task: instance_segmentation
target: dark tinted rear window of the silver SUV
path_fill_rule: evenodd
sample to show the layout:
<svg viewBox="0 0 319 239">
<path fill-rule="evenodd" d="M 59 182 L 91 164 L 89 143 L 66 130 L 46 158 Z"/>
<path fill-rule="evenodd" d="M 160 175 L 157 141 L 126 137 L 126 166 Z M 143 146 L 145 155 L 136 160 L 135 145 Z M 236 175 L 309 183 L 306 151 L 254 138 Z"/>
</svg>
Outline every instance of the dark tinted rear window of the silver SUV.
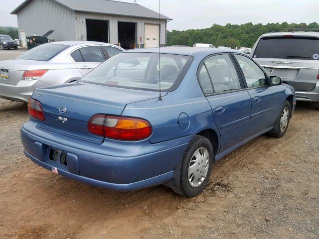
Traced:
<svg viewBox="0 0 319 239">
<path fill-rule="evenodd" d="M 319 39 L 310 37 L 261 38 L 254 57 L 318 60 Z"/>
</svg>

